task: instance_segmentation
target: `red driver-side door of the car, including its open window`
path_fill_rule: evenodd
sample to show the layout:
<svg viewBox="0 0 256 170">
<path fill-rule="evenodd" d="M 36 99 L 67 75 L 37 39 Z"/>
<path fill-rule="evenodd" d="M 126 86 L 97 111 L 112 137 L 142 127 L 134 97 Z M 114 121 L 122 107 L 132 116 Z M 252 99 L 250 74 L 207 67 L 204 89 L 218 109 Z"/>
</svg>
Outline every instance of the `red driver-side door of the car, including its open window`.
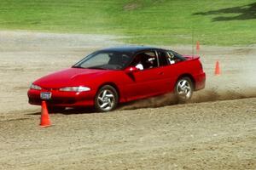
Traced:
<svg viewBox="0 0 256 170">
<path fill-rule="evenodd" d="M 143 65 L 143 69 L 141 66 L 137 67 L 138 63 Z M 163 93 L 163 67 L 159 67 L 159 64 L 155 50 L 143 51 L 135 56 L 131 66 L 141 70 L 132 73 L 132 83 L 127 87 L 129 99 L 141 99 Z"/>
</svg>

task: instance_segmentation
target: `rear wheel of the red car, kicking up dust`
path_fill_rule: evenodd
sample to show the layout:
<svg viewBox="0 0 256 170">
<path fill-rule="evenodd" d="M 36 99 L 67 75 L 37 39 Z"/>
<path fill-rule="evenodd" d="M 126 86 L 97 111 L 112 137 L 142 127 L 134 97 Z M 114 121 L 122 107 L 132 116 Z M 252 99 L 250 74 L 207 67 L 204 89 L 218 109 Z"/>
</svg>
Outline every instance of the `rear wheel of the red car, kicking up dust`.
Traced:
<svg viewBox="0 0 256 170">
<path fill-rule="evenodd" d="M 194 92 L 194 84 L 189 77 L 182 77 L 175 85 L 175 95 L 179 103 L 186 103 L 191 99 Z"/>
</svg>

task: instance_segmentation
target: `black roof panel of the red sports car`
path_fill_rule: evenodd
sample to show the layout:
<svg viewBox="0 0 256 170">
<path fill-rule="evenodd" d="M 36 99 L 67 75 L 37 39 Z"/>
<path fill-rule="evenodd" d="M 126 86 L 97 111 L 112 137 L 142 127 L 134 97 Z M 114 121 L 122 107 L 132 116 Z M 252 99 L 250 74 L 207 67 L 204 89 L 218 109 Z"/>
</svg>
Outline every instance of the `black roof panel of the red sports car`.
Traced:
<svg viewBox="0 0 256 170">
<path fill-rule="evenodd" d="M 154 49 L 161 49 L 161 48 L 152 48 L 148 46 L 121 46 L 121 47 L 114 47 L 114 48 L 104 48 L 100 51 L 116 51 L 116 52 L 125 52 L 125 53 L 134 54 L 139 51 L 154 50 Z"/>
</svg>

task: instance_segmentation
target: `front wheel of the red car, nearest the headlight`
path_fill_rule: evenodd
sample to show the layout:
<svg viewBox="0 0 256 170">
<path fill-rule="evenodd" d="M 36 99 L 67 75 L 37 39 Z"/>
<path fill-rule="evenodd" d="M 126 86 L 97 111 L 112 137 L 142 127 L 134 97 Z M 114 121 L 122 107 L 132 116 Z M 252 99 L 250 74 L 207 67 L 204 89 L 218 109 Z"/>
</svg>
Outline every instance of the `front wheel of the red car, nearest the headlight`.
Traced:
<svg viewBox="0 0 256 170">
<path fill-rule="evenodd" d="M 119 95 L 115 88 L 105 85 L 100 88 L 96 94 L 94 105 L 96 111 L 107 112 L 113 111 L 119 102 Z"/>
</svg>

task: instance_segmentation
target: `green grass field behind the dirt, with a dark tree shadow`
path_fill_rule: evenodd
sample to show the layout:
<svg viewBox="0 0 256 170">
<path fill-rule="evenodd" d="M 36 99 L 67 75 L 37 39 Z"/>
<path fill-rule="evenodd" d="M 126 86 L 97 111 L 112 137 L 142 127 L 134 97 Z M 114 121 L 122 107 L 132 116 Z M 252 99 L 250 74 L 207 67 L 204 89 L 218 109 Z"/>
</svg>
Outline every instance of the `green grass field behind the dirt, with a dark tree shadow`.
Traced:
<svg viewBox="0 0 256 170">
<path fill-rule="evenodd" d="M 246 6 L 252 3 L 255 0 L 0 0 L 0 29 L 113 34 L 139 44 L 247 45 L 256 43 L 256 5 Z"/>
</svg>

